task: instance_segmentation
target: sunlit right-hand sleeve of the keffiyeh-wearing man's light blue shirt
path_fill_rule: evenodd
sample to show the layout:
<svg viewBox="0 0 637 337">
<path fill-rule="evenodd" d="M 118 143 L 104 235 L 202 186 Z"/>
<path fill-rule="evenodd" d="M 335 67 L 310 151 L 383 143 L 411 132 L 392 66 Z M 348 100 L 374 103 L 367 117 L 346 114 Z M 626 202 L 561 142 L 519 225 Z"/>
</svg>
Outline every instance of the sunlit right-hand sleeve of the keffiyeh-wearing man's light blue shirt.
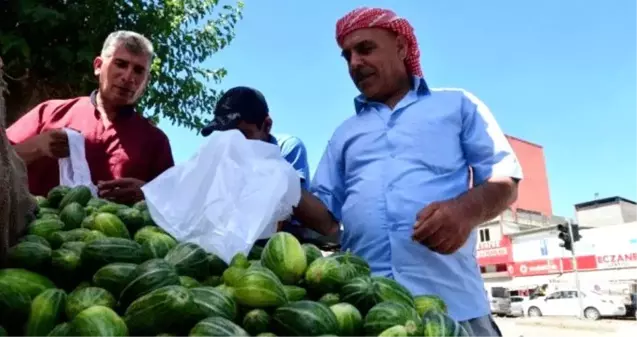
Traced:
<svg viewBox="0 0 637 337">
<path fill-rule="evenodd" d="M 462 98 L 462 148 L 474 185 L 492 177 L 522 179 L 522 167 L 489 108 L 473 94 Z"/>
</svg>

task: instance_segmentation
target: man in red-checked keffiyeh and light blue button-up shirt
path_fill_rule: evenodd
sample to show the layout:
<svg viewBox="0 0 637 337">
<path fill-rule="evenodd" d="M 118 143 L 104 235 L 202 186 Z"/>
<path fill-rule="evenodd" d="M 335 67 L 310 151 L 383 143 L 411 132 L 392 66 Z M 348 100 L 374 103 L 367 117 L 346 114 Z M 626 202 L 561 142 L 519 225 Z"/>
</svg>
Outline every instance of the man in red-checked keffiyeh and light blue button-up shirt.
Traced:
<svg viewBox="0 0 637 337">
<path fill-rule="evenodd" d="M 336 40 L 361 95 L 311 189 L 343 224 L 342 249 L 414 295 L 441 297 L 471 336 L 501 336 L 475 252 L 476 227 L 517 198 L 506 137 L 471 93 L 429 88 L 414 30 L 394 12 L 356 9 Z"/>
</svg>

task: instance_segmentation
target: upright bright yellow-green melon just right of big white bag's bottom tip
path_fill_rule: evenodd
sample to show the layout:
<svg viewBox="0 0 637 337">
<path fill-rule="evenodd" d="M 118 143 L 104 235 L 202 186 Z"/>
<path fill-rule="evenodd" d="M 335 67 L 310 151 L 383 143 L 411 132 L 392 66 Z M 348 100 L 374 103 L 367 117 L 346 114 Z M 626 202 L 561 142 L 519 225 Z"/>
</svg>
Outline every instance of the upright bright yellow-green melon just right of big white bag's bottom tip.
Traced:
<svg viewBox="0 0 637 337">
<path fill-rule="evenodd" d="M 286 232 L 274 234 L 263 248 L 261 264 L 272 270 L 283 284 L 296 284 L 305 273 L 307 258 L 299 240 Z"/>
</svg>

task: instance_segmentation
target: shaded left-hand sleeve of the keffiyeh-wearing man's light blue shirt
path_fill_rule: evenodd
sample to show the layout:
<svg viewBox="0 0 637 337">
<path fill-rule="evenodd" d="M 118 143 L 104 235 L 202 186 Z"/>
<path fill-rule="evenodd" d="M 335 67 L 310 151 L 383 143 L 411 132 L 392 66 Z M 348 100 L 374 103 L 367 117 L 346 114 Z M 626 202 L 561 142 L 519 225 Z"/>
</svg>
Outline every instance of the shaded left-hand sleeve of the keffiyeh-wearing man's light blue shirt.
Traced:
<svg viewBox="0 0 637 337">
<path fill-rule="evenodd" d="M 345 199 L 340 158 L 340 153 L 334 148 L 333 143 L 328 143 L 310 187 L 311 192 L 325 204 L 338 221 L 341 221 L 341 208 Z"/>
</svg>

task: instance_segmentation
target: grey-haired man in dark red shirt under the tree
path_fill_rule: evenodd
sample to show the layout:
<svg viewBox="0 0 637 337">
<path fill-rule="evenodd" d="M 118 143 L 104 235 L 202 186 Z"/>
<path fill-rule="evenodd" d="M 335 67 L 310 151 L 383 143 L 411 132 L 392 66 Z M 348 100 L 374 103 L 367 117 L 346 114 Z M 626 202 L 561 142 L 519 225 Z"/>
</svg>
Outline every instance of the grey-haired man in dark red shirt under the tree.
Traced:
<svg viewBox="0 0 637 337">
<path fill-rule="evenodd" d="M 69 155 L 62 128 L 84 136 L 91 177 L 105 199 L 141 200 L 140 187 L 174 165 L 166 135 L 135 111 L 152 57 L 153 46 L 142 35 L 111 33 L 93 61 L 98 90 L 45 101 L 11 125 L 7 135 L 27 165 L 32 194 L 46 195 L 59 184 L 58 159 Z"/>
</svg>

